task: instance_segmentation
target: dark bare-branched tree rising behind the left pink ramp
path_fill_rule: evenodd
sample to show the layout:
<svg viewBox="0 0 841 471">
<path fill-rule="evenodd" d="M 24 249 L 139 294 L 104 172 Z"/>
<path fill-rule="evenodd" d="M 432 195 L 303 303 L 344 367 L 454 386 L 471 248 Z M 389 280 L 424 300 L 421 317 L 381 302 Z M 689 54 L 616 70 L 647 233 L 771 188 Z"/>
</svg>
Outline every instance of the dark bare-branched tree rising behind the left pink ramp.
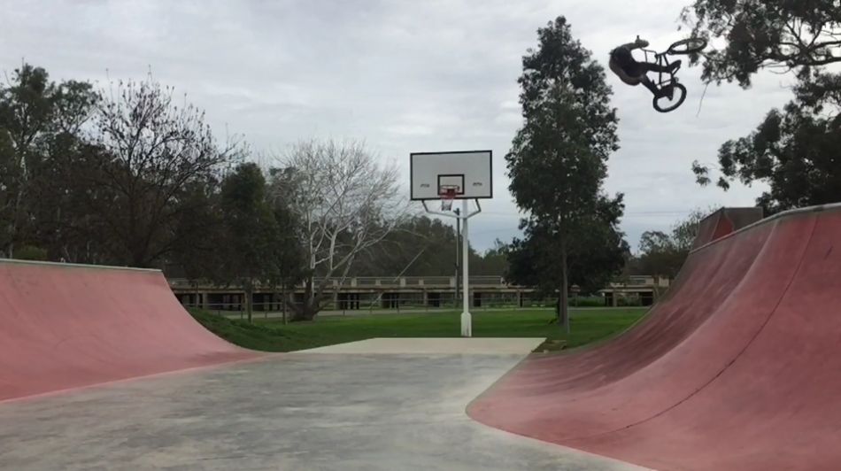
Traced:
<svg viewBox="0 0 841 471">
<path fill-rule="evenodd" d="M 151 266 L 180 237 L 202 236 L 175 230 L 184 214 L 200 209 L 194 203 L 204 201 L 186 192 L 216 181 L 225 164 L 243 156 L 243 146 L 218 145 L 204 112 L 186 98 L 177 103 L 173 89 L 151 77 L 120 81 L 103 95 L 90 138 L 102 151 L 79 178 L 100 190 L 89 193 L 87 203 L 104 220 L 112 258 Z"/>
</svg>

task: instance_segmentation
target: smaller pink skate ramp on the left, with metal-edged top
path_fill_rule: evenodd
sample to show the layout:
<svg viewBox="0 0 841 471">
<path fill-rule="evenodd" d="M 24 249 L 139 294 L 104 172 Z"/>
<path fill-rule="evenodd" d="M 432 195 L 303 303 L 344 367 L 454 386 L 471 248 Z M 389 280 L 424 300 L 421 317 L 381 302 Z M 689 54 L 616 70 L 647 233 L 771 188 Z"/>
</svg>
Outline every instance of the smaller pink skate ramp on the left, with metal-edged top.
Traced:
<svg viewBox="0 0 841 471">
<path fill-rule="evenodd" d="M 0 401 L 258 357 L 198 324 L 153 270 L 0 260 Z"/>
</svg>

